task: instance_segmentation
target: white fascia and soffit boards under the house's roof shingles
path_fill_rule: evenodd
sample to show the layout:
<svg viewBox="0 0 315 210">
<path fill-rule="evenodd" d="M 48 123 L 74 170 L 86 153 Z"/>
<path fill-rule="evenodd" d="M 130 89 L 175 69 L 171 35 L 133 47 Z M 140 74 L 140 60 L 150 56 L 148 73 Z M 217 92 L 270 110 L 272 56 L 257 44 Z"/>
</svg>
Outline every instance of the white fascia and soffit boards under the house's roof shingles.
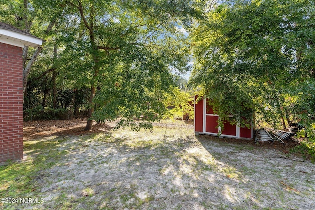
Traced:
<svg viewBox="0 0 315 210">
<path fill-rule="evenodd" d="M 43 41 L 40 38 L 1 28 L 0 42 L 18 47 L 23 47 L 24 45 L 29 47 L 39 47 L 43 44 Z"/>
</svg>

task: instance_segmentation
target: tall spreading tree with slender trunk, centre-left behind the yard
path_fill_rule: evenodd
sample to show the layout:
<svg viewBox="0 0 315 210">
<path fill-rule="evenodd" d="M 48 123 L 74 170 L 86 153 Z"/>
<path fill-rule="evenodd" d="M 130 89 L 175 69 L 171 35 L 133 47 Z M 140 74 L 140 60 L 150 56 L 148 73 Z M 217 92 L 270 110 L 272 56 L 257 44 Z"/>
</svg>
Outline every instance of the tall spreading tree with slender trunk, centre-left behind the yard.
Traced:
<svg viewBox="0 0 315 210">
<path fill-rule="evenodd" d="M 138 129 L 150 124 L 134 119 L 145 115 L 150 122 L 163 115 L 171 69 L 184 69 L 189 56 L 180 32 L 195 12 L 189 2 L 65 1 L 71 12 L 63 56 L 69 59 L 69 74 L 91 87 L 86 130 L 92 129 L 93 119 L 120 115 L 119 126 Z"/>
</svg>

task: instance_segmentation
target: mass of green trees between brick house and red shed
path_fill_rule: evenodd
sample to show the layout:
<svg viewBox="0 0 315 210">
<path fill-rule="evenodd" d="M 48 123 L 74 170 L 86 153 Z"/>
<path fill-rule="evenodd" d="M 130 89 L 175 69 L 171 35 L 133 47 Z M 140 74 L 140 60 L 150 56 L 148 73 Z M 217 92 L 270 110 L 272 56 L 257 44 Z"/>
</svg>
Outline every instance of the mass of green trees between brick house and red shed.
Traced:
<svg viewBox="0 0 315 210">
<path fill-rule="evenodd" d="M 189 68 L 183 29 L 201 15 L 203 2 L 196 2 L 3 1 L 2 21 L 44 39 L 24 107 L 87 107 L 88 121 L 120 116 L 119 126 L 150 128 L 150 121 L 167 113 L 164 101 L 173 90 L 172 72 Z M 148 124 L 135 121 L 142 116 Z"/>
</svg>

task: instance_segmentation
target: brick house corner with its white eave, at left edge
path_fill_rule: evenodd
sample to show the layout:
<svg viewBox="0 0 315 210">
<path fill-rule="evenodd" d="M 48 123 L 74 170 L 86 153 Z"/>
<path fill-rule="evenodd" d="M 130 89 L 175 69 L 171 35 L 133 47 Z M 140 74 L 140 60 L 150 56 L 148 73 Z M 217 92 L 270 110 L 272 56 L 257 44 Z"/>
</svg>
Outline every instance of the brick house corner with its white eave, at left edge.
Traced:
<svg viewBox="0 0 315 210">
<path fill-rule="evenodd" d="M 0 22 L 0 162 L 23 157 L 23 46 L 42 40 Z"/>
</svg>

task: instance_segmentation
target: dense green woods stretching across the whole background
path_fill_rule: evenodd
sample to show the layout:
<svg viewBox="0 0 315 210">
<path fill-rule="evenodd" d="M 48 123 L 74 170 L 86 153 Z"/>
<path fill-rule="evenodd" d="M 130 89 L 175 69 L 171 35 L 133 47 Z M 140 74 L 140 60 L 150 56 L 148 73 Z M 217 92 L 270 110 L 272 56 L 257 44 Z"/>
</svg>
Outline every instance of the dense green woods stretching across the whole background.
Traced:
<svg viewBox="0 0 315 210">
<path fill-rule="evenodd" d="M 219 124 L 231 114 L 245 125 L 253 115 L 275 128 L 298 123 L 315 142 L 311 0 L 0 3 L 1 21 L 44 39 L 23 50 L 25 109 L 86 108 L 86 130 L 118 116 L 118 126 L 151 128 L 170 101 L 189 98 L 174 72 L 193 61 L 189 94 L 209 98 Z"/>
</svg>

